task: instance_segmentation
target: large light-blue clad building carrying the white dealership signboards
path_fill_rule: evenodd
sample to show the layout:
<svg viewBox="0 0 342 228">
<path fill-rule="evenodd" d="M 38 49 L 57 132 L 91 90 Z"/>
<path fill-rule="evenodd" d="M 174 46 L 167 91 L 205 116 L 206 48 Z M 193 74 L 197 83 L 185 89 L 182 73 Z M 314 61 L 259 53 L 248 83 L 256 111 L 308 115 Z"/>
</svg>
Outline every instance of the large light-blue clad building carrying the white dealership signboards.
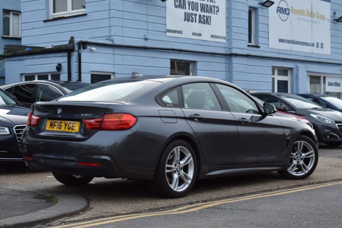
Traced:
<svg viewBox="0 0 342 228">
<path fill-rule="evenodd" d="M 140 72 L 341 97 L 342 3 L 267 2 L 21 0 L 22 43 L 5 47 L 6 84 L 94 83 Z"/>
</svg>

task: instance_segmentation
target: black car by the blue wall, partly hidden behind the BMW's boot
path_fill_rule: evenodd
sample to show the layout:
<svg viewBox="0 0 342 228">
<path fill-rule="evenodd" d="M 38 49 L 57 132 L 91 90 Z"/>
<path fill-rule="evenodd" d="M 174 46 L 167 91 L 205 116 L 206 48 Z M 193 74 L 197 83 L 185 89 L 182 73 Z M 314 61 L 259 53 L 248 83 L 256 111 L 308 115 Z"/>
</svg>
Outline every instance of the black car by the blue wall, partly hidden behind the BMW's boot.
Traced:
<svg viewBox="0 0 342 228">
<path fill-rule="evenodd" d="M 51 101 L 87 85 L 89 83 L 35 80 L 0 86 L 0 89 L 14 95 L 21 104 L 30 108 L 36 101 Z"/>
</svg>

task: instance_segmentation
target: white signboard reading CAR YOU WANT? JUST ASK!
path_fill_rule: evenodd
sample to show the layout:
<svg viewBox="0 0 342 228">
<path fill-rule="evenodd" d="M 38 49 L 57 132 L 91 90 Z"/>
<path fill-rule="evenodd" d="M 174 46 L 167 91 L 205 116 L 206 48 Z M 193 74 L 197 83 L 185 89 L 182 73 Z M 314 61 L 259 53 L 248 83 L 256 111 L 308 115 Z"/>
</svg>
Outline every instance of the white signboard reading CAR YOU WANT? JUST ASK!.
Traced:
<svg viewBox="0 0 342 228">
<path fill-rule="evenodd" d="M 168 0 L 166 36 L 226 42 L 226 1 Z"/>
</svg>

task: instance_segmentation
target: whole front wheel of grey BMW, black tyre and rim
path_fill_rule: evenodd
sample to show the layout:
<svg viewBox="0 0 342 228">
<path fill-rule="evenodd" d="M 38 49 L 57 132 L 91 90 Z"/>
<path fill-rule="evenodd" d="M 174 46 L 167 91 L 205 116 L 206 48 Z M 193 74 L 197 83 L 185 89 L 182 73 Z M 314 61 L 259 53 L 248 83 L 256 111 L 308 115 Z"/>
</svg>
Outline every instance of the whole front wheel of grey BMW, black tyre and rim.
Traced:
<svg viewBox="0 0 342 228">
<path fill-rule="evenodd" d="M 305 179 L 316 169 L 317 162 L 317 146 L 309 137 L 301 135 L 293 143 L 288 168 L 278 173 L 287 179 Z"/>
</svg>

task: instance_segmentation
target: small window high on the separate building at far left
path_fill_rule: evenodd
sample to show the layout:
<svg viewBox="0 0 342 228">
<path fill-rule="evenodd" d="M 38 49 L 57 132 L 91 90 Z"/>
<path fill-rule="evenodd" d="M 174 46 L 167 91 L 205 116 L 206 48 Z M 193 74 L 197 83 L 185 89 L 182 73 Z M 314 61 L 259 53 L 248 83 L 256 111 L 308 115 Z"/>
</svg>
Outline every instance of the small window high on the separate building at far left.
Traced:
<svg viewBox="0 0 342 228">
<path fill-rule="evenodd" d="M 20 12 L 3 11 L 3 36 L 20 37 L 21 36 Z"/>
</svg>

